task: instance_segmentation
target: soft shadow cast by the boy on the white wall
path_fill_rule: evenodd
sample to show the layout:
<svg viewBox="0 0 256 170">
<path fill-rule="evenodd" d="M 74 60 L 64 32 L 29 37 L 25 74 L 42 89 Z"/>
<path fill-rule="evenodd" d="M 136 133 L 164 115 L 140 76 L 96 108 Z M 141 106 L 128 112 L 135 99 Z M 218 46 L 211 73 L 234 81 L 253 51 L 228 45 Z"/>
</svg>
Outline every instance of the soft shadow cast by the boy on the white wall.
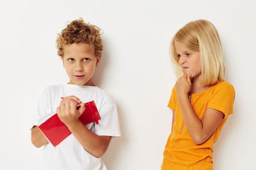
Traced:
<svg viewBox="0 0 256 170">
<path fill-rule="evenodd" d="M 95 73 L 93 75 L 93 83 L 97 85 L 98 87 L 104 87 L 102 83 L 104 83 L 105 75 L 106 75 L 106 69 L 109 66 L 109 53 L 108 53 L 108 45 L 106 45 L 107 41 L 106 39 L 102 39 L 104 43 L 104 50 L 102 52 L 102 58 L 100 59 L 100 64 L 95 70 Z M 111 81 L 111 80 L 106 80 L 106 81 Z M 104 89 L 105 90 L 105 89 Z M 116 160 L 120 157 L 120 149 L 122 146 L 124 146 L 125 143 L 125 129 L 124 126 L 124 121 L 122 118 L 122 106 L 120 105 L 120 102 L 116 101 L 117 105 L 117 111 L 118 111 L 118 119 L 120 123 L 120 129 L 121 129 L 121 135 L 122 138 L 112 138 L 111 142 L 109 144 L 107 152 L 103 155 L 102 159 L 104 164 L 108 169 L 115 169 L 116 165 Z"/>
</svg>

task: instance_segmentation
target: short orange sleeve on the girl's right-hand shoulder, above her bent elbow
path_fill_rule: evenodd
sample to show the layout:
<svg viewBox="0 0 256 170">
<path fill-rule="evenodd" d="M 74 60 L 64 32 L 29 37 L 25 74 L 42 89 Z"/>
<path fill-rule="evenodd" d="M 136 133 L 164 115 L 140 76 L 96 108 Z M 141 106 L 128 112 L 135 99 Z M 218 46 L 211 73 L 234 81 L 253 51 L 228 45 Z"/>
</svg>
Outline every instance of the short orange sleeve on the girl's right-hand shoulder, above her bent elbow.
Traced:
<svg viewBox="0 0 256 170">
<path fill-rule="evenodd" d="M 223 82 L 221 85 L 218 85 L 212 93 L 207 108 L 219 110 L 224 113 L 224 120 L 228 115 L 233 113 L 235 95 L 234 87 L 229 83 Z"/>
</svg>

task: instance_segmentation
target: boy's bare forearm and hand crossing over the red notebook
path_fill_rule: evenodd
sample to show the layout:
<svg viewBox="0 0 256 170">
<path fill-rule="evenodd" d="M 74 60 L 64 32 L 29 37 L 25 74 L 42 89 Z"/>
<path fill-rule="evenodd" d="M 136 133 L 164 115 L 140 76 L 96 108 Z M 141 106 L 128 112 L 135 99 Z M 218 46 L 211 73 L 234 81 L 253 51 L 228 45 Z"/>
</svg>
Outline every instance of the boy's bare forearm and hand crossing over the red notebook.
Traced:
<svg viewBox="0 0 256 170">
<path fill-rule="evenodd" d="M 61 101 L 60 106 L 57 108 L 58 117 L 61 122 L 67 125 L 68 129 L 87 152 L 95 157 L 101 157 L 108 149 L 112 137 L 99 136 L 85 127 L 79 120 L 79 117 L 86 109 L 85 105 L 82 103 L 81 107 L 77 110 L 77 104 L 79 103 L 74 101 L 73 98 L 65 97 Z"/>
</svg>

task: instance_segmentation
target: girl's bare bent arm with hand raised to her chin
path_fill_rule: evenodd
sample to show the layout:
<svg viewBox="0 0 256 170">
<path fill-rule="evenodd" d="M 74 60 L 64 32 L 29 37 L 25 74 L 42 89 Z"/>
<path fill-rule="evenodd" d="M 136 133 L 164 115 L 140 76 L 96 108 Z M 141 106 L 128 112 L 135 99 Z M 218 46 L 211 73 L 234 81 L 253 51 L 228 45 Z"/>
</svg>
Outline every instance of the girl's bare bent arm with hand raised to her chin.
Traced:
<svg viewBox="0 0 256 170">
<path fill-rule="evenodd" d="M 224 114 L 221 111 L 206 108 L 204 117 L 200 120 L 189 103 L 188 92 L 190 89 L 191 74 L 184 73 L 184 76 L 179 78 L 175 84 L 177 100 L 191 138 L 196 145 L 200 145 L 210 138 L 223 120 Z"/>
</svg>

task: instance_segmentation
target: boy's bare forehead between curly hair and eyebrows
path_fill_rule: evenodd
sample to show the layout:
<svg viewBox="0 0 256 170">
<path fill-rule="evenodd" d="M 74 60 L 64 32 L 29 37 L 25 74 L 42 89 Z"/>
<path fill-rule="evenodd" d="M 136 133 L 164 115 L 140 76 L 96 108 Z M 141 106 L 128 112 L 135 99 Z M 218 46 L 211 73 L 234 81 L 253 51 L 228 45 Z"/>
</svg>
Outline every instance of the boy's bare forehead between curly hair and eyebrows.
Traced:
<svg viewBox="0 0 256 170">
<path fill-rule="evenodd" d="M 88 53 L 90 55 L 95 55 L 95 48 L 88 43 L 72 43 L 64 46 L 64 55 L 74 53 Z"/>
</svg>

